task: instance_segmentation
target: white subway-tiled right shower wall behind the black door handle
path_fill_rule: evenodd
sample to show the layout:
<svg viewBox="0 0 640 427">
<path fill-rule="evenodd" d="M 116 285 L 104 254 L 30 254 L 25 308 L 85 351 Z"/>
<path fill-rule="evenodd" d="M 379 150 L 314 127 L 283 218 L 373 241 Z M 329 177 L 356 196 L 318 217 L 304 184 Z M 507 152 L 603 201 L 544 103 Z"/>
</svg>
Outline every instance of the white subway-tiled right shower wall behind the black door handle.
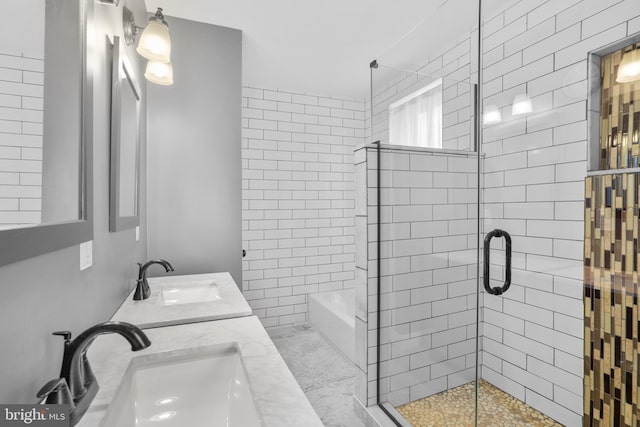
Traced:
<svg viewBox="0 0 640 427">
<path fill-rule="evenodd" d="M 513 238 L 513 284 L 485 295 L 482 376 L 565 425 L 582 420 L 587 54 L 640 31 L 636 0 L 512 4 L 484 27 L 484 231 Z M 527 94 L 533 112 L 514 117 Z M 496 259 L 501 256 L 496 256 Z"/>
</svg>

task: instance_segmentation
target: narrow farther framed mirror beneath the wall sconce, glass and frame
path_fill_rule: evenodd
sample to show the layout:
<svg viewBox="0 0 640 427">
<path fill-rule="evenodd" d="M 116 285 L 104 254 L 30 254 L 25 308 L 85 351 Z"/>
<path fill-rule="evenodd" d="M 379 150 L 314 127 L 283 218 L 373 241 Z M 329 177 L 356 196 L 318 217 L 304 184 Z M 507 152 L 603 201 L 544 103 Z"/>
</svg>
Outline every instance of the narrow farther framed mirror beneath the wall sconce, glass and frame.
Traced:
<svg viewBox="0 0 640 427">
<path fill-rule="evenodd" d="M 111 170 L 109 230 L 120 231 L 140 224 L 138 182 L 140 165 L 140 88 L 133 67 L 113 40 L 111 78 Z"/>
</svg>

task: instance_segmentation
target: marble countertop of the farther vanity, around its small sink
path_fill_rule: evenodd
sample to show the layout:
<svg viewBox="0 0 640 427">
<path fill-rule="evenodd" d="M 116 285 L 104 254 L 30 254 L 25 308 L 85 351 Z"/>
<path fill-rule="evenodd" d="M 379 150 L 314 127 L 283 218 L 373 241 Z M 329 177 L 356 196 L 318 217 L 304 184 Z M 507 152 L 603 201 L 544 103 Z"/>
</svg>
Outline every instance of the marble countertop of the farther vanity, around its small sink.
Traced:
<svg viewBox="0 0 640 427">
<path fill-rule="evenodd" d="M 229 273 L 191 274 L 147 279 L 151 296 L 134 301 L 133 293 L 124 300 L 111 320 L 129 322 L 142 329 L 209 320 L 250 316 L 253 312 Z M 190 304 L 163 305 L 162 291 L 194 282 L 214 282 L 220 299 Z"/>
</svg>

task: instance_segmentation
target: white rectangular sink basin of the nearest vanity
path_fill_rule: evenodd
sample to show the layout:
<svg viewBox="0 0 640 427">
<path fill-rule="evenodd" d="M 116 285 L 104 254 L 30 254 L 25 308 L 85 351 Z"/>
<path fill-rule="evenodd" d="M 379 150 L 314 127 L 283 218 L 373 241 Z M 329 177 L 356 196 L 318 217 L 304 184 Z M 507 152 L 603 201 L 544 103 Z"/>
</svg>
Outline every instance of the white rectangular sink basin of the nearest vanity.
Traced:
<svg viewBox="0 0 640 427">
<path fill-rule="evenodd" d="M 235 344 L 132 359 L 104 427 L 262 424 Z"/>
</svg>

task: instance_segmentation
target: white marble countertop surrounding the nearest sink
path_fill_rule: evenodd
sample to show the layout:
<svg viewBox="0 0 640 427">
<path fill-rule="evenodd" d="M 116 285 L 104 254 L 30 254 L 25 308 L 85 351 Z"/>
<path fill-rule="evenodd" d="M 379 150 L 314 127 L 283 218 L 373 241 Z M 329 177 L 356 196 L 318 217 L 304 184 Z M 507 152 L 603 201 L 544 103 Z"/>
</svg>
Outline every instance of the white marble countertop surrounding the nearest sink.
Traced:
<svg viewBox="0 0 640 427">
<path fill-rule="evenodd" d="M 168 326 L 145 333 L 151 346 L 139 352 L 132 352 L 129 343 L 114 334 L 99 336 L 91 345 L 88 358 L 100 390 L 79 427 L 101 425 L 127 366 L 136 356 L 226 343 L 237 343 L 263 427 L 322 427 L 257 317 Z"/>
</svg>

